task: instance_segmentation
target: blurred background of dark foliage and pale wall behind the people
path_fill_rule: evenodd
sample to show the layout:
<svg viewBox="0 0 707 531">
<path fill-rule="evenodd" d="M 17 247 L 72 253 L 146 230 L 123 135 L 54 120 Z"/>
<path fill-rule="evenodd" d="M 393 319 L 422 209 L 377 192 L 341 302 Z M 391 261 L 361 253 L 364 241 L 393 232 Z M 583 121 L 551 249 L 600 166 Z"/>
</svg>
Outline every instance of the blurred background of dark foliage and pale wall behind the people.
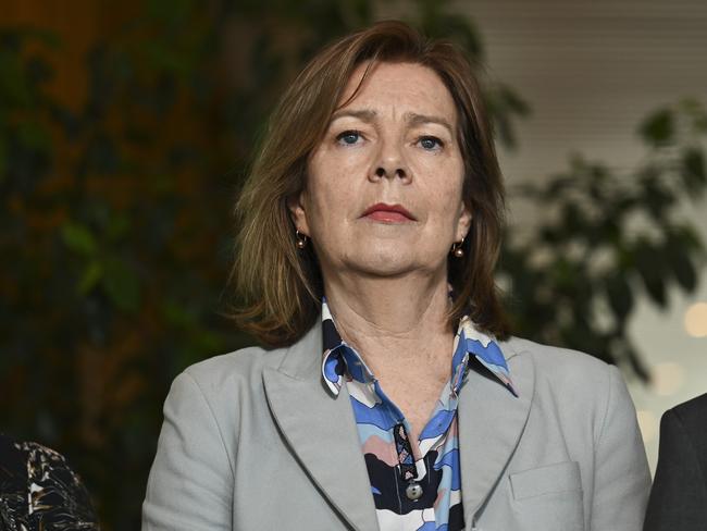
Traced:
<svg viewBox="0 0 707 531">
<path fill-rule="evenodd" d="M 224 314 L 231 210 L 278 94 L 379 18 L 479 64 L 509 193 L 518 335 L 617 363 L 652 468 L 707 392 L 707 4 L 5 0 L 0 431 L 139 511 L 172 379 L 252 339 Z"/>
</svg>

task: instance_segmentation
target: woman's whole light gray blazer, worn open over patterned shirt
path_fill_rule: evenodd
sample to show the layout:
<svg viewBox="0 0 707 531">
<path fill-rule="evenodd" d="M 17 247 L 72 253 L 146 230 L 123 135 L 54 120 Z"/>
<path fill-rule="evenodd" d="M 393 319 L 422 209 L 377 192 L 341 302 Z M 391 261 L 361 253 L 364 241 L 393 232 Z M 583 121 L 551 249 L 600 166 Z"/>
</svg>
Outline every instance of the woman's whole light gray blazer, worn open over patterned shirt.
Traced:
<svg viewBox="0 0 707 531">
<path fill-rule="evenodd" d="M 467 530 L 638 531 L 650 477 L 619 371 L 500 343 L 513 397 L 470 372 L 459 397 Z M 321 325 L 289 348 L 246 348 L 179 374 L 142 530 L 376 530 L 346 386 L 321 380 Z"/>
</svg>

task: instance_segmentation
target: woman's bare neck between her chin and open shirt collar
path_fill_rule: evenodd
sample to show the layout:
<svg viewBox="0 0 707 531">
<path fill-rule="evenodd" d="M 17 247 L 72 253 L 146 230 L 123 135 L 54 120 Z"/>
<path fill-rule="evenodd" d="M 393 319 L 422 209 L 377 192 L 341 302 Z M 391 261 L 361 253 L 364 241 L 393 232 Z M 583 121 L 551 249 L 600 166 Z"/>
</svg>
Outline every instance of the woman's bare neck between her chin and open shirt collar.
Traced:
<svg viewBox="0 0 707 531">
<path fill-rule="evenodd" d="M 436 277 L 325 279 L 324 288 L 342 338 L 367 363 L 376 365 L 375 358 L 381 357 L 430 360 L 449 355 L 447 348 L 439 348 L 454 341 L 447 325 L 446 272 Z"/>
</svg>

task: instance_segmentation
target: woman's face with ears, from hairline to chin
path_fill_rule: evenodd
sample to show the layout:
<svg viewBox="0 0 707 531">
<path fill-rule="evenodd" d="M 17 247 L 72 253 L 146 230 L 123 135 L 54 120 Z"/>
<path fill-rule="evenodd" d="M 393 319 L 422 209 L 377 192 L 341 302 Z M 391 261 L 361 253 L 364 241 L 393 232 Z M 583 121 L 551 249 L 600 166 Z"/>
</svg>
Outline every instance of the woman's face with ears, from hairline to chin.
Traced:
<svg viewBox="0 0 707 531">
<path fill-rule="evenodd" d="M 365 70 L 360 65 L 346 101 Z M 340 103 L 340 102 L 339 102 Z M 463 160 L 451 95 L 434 71 L 380 63 L 338 109 L 289 207 L 322 274 L 445 274 L 466 236 Z"/>
</svg>

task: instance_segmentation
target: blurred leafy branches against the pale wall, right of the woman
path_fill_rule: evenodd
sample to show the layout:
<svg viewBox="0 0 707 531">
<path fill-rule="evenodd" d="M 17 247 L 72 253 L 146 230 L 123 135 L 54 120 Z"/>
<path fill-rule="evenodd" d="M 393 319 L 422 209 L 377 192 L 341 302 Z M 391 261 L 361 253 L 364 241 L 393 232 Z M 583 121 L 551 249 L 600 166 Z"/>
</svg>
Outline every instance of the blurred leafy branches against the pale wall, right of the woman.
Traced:
<svg viewBox="0 0 707 531">
<path fill-rule="evenodd" d="M 648 116 L 638 132 L 649 151 L 628 174 L 575 158 L 567 173 L 513 190 L 547 213 L 509 235 L 501 259 L 519 334 L 648 378 L 627 326 L 641 294 L 666 308 L 671 287 L 697 285 L 705 249 L 679 210 L 707 185 L 706 116 L 696 101 Z"/>
</svg>

